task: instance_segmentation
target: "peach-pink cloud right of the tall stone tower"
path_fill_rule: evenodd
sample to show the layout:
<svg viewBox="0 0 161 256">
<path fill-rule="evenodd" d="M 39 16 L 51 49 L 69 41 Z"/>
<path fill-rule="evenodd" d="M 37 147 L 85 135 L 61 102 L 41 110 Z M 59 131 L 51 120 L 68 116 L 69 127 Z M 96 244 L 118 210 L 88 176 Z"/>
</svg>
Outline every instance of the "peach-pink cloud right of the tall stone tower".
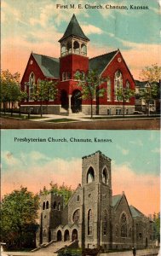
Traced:
<svg viewBox="0 0 161 256">
<path fill-rule="evenodd" d="M 141 173 L 141 172 L 140 172 Z M 130 166 L 112 165 L 112 192 L 120 195 L 124 191 L 129 205 L 149 214 L 159 211 L 159 177 L 152 174 L 136 174 Z"/>
</svg>

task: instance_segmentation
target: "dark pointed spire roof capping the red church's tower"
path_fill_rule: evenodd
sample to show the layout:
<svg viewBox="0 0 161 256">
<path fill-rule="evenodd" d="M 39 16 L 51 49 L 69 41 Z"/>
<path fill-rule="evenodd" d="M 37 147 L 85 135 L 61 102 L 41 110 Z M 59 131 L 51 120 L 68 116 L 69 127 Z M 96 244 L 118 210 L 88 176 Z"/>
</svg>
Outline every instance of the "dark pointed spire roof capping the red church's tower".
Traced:
<svg viewBox="0 0 161 256">
<path fill-rule="evenodd" d="M 87 38 L 84 35 L 82 28 L 79 26 L 78 20 L 76 19 L 75 15 L 72 15 L 72 19 L 66 28 L 66 32 L 64 33 L 63 37 L 60 38 L 59 42 L 61 42 L 62 40 L 64 40 L 65 38 L 68 38 L 70 36 L 75 36 L 77 38 L 82 38 L 86 41 L 89 41 L 89 38 Z"/>
</svg>

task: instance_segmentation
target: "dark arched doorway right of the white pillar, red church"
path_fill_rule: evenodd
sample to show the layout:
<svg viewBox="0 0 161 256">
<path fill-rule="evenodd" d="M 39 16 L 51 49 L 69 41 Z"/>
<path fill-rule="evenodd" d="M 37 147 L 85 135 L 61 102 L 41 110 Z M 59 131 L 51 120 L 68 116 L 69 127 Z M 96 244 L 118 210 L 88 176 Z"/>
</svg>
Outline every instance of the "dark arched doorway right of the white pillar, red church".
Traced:
<svg viewBox="0 0 161 256">
<path fill-rule="evenodd" d="M 82 111 L 82 95 L 80 90 L 74 90 L 71 98 L 72 113 Z"/>
</svg>

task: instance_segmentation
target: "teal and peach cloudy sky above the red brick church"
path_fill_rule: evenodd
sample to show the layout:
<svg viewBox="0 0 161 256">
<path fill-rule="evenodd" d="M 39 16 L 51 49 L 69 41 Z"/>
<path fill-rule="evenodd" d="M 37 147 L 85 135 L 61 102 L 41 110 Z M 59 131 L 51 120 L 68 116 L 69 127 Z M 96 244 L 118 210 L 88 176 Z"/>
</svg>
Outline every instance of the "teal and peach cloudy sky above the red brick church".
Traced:
<svg viewBox="0 0 161 256">
<path fill-rule="evenodd" d="M 1 1 L 1 68 L 23 75 L 31 52 L 60 57 L 58 40 L 76 15 L 85 35 L 90 39 L 88 56 L 102 55 L 120 49 L 135 79 L 141 69 L 159 63 L 160 0 L 79 0 L 83 9 L 57 9 L 56 4 L 71 0 L 2 0 Z M 104 9 L 85 9 L 84 4 L 101 4 Z M 128 9 L 106 9 L 127 6 Z M 133 6 L 132 9 L 130 6 Z M 135 10 L 134 5 L 147 5 Z"/>
</svg>

